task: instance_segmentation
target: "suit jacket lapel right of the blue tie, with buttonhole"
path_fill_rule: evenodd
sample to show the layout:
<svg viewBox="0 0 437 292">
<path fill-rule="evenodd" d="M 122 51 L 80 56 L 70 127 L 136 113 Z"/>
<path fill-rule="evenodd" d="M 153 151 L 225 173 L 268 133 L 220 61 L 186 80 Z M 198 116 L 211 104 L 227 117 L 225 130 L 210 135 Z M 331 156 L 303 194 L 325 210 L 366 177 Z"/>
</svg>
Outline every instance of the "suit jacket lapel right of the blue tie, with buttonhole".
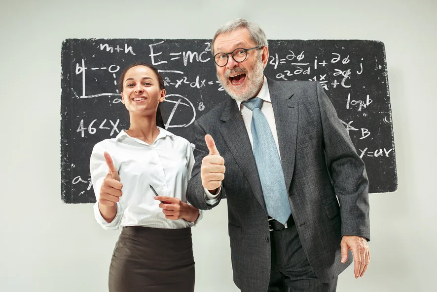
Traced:
<svg viewBox="0 0 437 292">
<path fill-rule="evenodd" d="M 291 83 L 267 78 L 278 133 L 279 151 L 287 190 L 293 177 L 296 154 L 298 110 Z M 294 97 L 294 98 L 293 98 Z"/>
</svg>

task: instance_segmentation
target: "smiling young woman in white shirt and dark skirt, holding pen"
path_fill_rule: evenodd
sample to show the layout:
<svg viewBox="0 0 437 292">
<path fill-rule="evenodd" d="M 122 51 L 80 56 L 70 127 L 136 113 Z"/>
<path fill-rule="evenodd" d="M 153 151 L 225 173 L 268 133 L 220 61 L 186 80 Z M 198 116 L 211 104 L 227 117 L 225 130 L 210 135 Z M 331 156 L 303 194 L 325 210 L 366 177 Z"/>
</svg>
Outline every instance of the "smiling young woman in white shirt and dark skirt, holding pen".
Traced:
<svg viewBox="0 0 437 292">
<path fill-rule="evenodd" d="M 97 143 L 90 160 L 95 218 L 105 229 L 122 227 L 109 291 L 192 292 L 190 227 L 202 213 L 185 199 L 191 145 L 163 128 L 159 104 L 165 87 L 155 68 L 131 65 L 119 84 L 130 127 Z"/>
</svg>

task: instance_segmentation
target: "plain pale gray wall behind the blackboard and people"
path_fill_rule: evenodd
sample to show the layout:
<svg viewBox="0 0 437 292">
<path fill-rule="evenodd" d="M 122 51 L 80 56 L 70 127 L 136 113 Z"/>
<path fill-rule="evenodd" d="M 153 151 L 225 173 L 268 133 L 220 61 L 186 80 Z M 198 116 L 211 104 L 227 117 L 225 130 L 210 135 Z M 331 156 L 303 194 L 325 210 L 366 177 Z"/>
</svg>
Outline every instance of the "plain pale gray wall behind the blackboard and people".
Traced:
<svg viewBox="0 0 437 292">
<path fill-rule="evenodd" d="M 104 292 L 117 231 L 60 194 L 61 43 L 211 39 L 244 17 L 269 39 L 385 43 L 399 189 L 370 195 L 371 263 L 338 291 L 437 291 L 435 0 L 5 1 L 0 4 L 0 291 Z M 226 202 L 193 228 L 196 292 L 235 292 Z M 216 280 L 211 280 L 216 279 Z"/>
</svg>

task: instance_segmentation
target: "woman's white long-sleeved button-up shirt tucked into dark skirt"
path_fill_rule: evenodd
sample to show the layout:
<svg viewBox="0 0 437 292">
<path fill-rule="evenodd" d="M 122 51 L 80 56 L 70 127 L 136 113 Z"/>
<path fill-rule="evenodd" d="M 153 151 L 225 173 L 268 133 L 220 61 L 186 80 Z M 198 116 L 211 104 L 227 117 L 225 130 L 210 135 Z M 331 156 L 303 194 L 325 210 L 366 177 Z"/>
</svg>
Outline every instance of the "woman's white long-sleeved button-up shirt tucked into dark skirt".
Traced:
<svg viewBox="0 0 437 292">
<path fill-rule="evenodd" d="M 190 143 L 169 131 L 158 127 L 159 134 L 151 144 L 129 136 L 125 130 L 112 139 L 97 143 L 91 154 L 91 181 L 97 202 L 94 216 L 105 229 L 118 229 L 120 226 L 146 226 L 153 228 L 181 229 L 195 224 L 202 218 L 200 211 L 196 222 L 170 220 L 165 218 L 159 201 L 150 189 L 151 185 L 160 196 L 180 199 L 186 203 L 185 192 L 194 156 Z M 103 156 L 108 152 L 118 170 L 123 184 L 122 196 L 117 202 L 115 218 L 108 223 L 99 210 L 100 187 L 108 174 L 108 166 Z"/>
</svg>

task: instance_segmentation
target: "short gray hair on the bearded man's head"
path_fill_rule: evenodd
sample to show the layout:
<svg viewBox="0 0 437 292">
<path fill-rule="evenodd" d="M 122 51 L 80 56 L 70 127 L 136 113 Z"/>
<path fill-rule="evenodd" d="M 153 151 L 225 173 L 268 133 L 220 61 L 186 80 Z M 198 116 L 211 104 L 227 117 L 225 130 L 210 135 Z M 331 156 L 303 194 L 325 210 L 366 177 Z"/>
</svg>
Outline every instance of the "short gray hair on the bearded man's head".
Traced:
<svg viewBox="0 0 437 292">
<path fill-rule="evenodd" d="M 214 42 L 220 34 L 230 33 L 240 28 L 248 29 L 250 37 L 255 46 L 268 46 L 267 37 L 265 36 L 262 29 L 252 21 L 247 21 L 243 18 L 237 18 L 222 24 L 214 35 L 213 41 L 211 42 L 211 52 L 214 56 Z"/>
</svg>

